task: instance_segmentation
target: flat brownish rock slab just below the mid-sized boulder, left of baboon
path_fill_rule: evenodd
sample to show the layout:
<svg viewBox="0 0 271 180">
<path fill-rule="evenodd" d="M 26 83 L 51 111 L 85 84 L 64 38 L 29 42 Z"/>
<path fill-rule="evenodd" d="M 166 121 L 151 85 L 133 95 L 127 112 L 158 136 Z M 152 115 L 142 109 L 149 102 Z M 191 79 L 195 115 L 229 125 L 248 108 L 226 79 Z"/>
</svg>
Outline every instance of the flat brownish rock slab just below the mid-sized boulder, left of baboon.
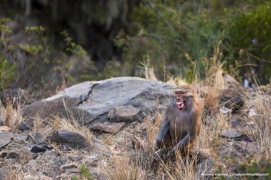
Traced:
<svg viewBox="0 0 271 180">
<path fill-rule="evenodd" d="M 95 126 L 92 126 L 91 130 L 117 133 L 121 128 L 125 126 L 125 124 L 126 124 L 125 122 L 115 122 L 115 123 L 105 122 L 102 124 L 96 124 Z"/>
</svg>

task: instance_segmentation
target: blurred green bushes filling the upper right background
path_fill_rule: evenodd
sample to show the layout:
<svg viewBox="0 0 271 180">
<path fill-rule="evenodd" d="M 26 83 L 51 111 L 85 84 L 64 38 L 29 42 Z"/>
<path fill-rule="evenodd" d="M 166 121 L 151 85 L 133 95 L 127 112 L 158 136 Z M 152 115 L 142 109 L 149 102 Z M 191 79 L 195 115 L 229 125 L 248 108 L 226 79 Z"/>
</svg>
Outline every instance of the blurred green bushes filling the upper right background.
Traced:
<svg viewBox="0 0 271 180">
<path fill-rule="evenodd" d="M 213 56 L 215 45 L 222 40 L 224 71 L 242 77 L 251 71 L 244 64 L 256 64 L 252 68 L 266 83 L 271 71 L 269 7 L 270 2 L 264 0 L 141 0 L 130 13 L 128 31 L 121 31 L 114 42 L 123 48 L 129 75 L 138 75 L 133 67 L 148 56 L 162 79 L 164 70 L 169 75 L 187 75 L 195 62 L 196 71 L 204 77 L 202 61 Z"/>
</svg>

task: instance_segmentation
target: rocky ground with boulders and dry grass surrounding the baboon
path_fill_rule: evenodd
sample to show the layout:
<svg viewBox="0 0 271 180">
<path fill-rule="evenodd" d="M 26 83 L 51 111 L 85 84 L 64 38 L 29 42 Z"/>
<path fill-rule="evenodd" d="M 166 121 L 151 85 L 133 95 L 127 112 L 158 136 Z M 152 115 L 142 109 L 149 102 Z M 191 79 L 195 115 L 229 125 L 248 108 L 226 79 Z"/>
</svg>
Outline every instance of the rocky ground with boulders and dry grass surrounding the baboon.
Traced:
<svg viewBox="0 0 271 180">
<path fill-rule="evenodd" d="M 261 126 L 270 121 L 270 108 L 259 107 L 271 104 L 270 89 L 245 89 L 228 75 L 223 83 L 220 89 L 194 85 L 203 102 L 195 147 L 201 161 L 161 164 L 158 171 L 152 167 L 155 136 L 174 85 L 120 77 L 84 82 L 36 102 L 16 96 L 21 91 L 5 92 L 0 179 L 210 179 L 200 173 L 240 172 L 232 159 L 247 163 L 263 151 L 270 156 Z"/>
</svg>

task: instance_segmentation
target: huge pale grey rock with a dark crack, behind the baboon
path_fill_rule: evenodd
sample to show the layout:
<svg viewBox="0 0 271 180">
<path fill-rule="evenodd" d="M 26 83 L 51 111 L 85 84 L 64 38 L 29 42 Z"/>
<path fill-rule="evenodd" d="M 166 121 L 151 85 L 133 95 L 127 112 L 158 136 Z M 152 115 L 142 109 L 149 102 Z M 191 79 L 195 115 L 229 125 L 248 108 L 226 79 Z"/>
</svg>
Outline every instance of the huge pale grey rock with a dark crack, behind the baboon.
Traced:
<svg viewBox="0 0 271 180">
<path fill-rule="evenodd" d="M 57 95 L 27 105 L 23 114 L 29 120 L 39 113 L 41 118 L 56 115 L 83 118 L 95 125 L 107 121 L 108 112 L 117 106 L 131 105 L 142 112 L 155 112 L 169 104 L 173 86 L 138 77 L 118 77 L 102 81 L 86 81 L 73 85 Z M 159 101 L 158 101 L 159 99 Z M 84 102 L 84 103 L 83 103 Z M 80 121 L 81 122 L 81 121 Z M 27 126 L 32 126 L 27 123 Z"/>
</svg>

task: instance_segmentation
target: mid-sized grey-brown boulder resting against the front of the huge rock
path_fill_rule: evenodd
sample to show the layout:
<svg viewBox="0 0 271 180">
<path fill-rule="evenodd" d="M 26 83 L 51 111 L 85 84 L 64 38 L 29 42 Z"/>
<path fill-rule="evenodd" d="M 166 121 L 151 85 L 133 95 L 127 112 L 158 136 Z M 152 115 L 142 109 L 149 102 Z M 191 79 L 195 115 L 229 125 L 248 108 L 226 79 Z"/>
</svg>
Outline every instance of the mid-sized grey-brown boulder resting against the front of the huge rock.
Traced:
<svg viewBox="0 0 271 180">
<path fill-rule="evenodd" d="M 112 108 L 108 113 L 109 122 L 135 122 L 138 121 L 143 114 L 140 109 L 133 106 L 118 106 Z"/>
</svg>

